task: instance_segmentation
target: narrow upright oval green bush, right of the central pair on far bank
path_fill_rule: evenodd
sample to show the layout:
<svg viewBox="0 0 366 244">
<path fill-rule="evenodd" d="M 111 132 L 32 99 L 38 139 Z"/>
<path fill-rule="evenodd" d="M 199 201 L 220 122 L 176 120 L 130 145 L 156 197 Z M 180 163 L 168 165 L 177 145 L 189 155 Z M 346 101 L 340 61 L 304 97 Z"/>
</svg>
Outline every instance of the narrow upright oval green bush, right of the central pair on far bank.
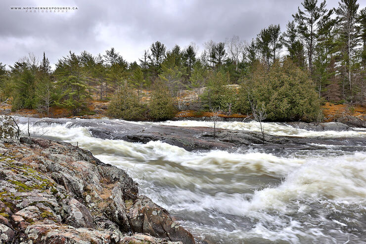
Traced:
<svg viewBox="0 0 366 244">
<path fill-rule="evenodd" d="M 176 109 L 173 98 L 163 81 L 156 81 L 152 86 L 149 109 L 149 116 L 157 121 L 169 120 L 174 117 Z"/>
</svg>

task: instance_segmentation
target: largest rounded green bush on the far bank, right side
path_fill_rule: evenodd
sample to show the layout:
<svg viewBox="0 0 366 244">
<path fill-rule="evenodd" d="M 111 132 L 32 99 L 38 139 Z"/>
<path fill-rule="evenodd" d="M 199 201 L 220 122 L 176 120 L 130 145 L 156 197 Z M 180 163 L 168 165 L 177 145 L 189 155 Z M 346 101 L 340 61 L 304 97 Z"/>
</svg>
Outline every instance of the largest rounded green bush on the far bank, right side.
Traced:
<svg viewBox="0 0 366 244">
<path fill-rule="evenodd" d="M 320 99 L 313 82 L 291 60 L 274 63 L 270 71 L 257 65 L 252 77 L 242 86 L 241 111 L 248 110 L 249 92 L 252 103 L 266 105 L 267 118 L 271 121 L 310 122 L 319 117 Z"/>
</svg>

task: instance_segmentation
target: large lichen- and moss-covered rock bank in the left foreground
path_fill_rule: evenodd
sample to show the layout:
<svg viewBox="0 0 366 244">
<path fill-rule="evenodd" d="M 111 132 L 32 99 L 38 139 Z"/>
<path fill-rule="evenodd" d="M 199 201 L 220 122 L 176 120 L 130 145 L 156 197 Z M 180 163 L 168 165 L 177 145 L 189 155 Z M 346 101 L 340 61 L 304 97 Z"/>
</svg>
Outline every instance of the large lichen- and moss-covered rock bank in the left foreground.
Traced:
<svg viewBox="0 0 366 244">
<path fill-rule="evenodd" d="M 194 244 L 127 173 L 65 142 L 0 141 L 0 244 Z"/>
</svg>

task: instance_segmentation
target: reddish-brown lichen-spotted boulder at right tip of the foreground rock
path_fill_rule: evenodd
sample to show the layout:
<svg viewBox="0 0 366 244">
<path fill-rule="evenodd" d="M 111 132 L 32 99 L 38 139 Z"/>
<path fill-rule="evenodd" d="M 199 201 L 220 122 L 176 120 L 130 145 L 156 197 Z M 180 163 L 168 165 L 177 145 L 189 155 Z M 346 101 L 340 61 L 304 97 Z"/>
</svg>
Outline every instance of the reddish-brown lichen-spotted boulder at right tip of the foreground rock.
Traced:
<svg viewBox="0 0 366 244">
<path fill-rule="evenodd" d="M 129 209 L 131 227 L 134 232 L 148 233 L 170 241 L 194 244 L 193 236 L 169 216 L 167 210 L 141 196 Z"/>
</svg>

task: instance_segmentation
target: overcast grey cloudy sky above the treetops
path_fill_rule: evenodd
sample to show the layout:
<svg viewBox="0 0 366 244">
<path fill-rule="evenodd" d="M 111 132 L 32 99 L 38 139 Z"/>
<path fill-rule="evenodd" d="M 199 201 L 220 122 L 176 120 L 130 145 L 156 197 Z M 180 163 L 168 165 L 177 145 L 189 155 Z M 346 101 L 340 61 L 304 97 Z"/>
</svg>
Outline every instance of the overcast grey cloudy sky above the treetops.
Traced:
<svg viewBox="0 0 366 244">
<path fill-rule="evenodd" d="M 168 48 L 233 35 L 250 41 L 270 24 L 281 30 L 302 0 L 1 0 L 0 62 L 13 64 L 33 52 L 50 62 L 71 50 L 92 54 L 115 49 L 135 61 L 154 41 Z M 366 0 L 359 0 L 360 7 Z M 327 0 L 328 8 L 337 0 Z M 26 12 L 10 7 L 77 7 L 64 13 Z"/>
</svg>

